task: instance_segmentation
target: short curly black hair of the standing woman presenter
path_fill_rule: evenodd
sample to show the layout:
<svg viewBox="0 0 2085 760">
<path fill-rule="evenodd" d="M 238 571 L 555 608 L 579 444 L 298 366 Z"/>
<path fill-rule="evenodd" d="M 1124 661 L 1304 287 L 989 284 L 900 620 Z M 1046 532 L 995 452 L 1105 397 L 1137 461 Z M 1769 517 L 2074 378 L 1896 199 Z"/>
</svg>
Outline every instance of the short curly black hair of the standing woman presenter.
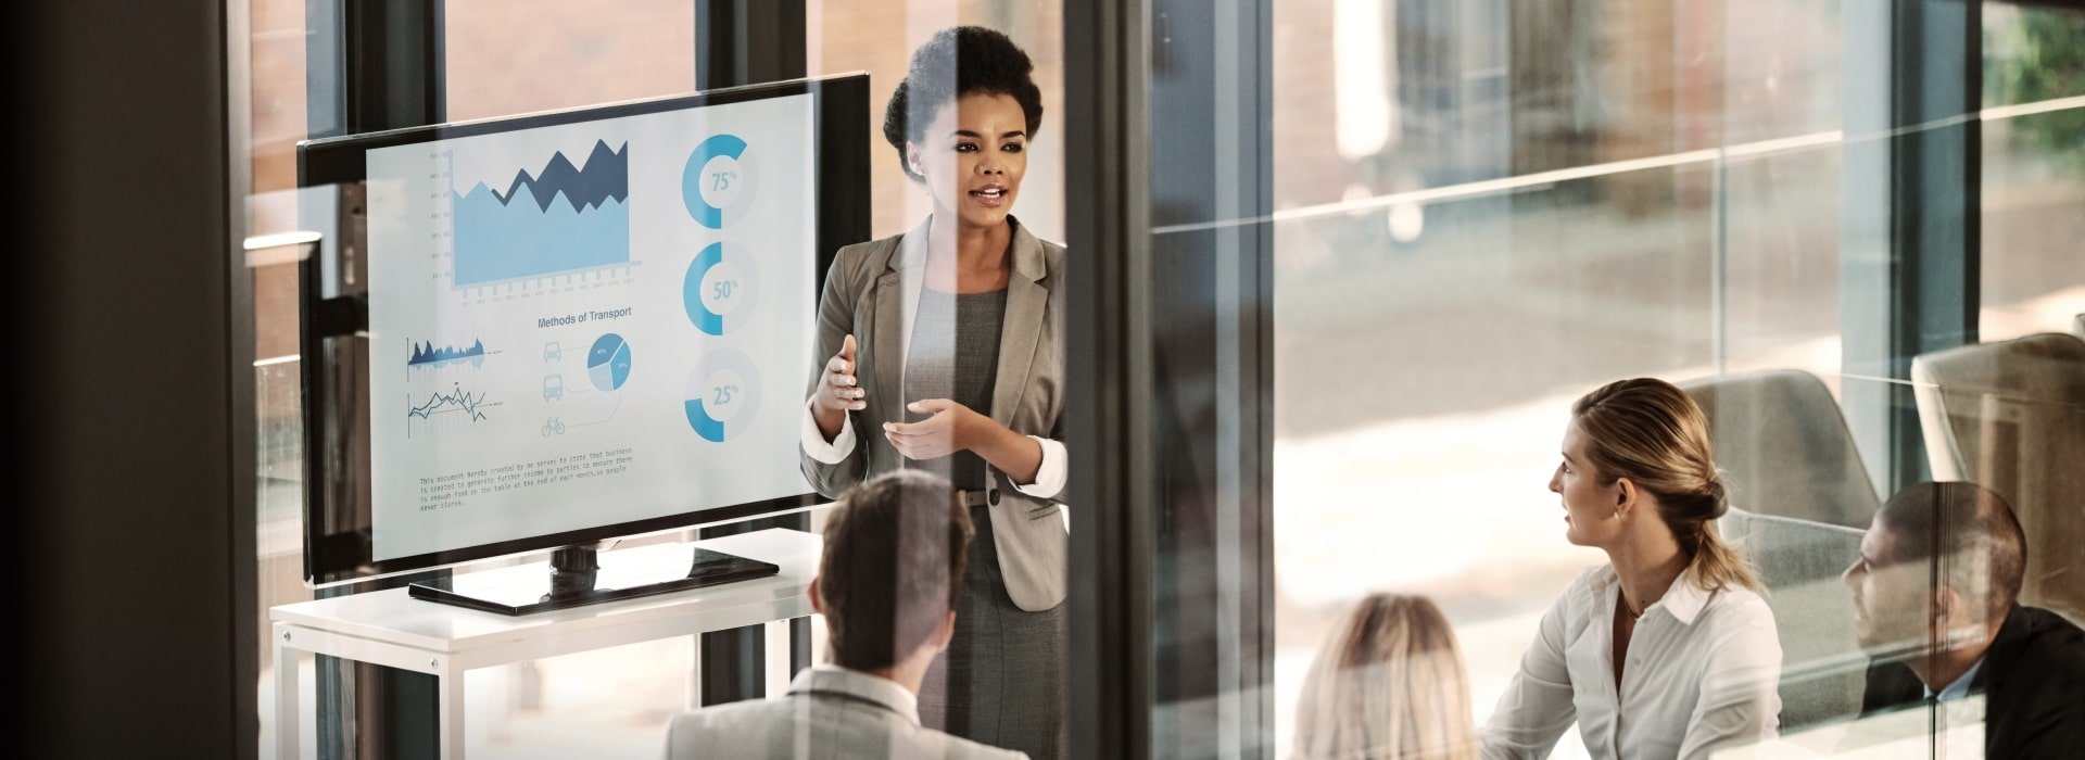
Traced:
<svg viewBox="0 0 2085 760">
<path fill-rule="evenodd" d="M 884 106 L 884 140 L 899 150 L 899 167 L 911 179 L 926 179 L 905 160 L 905 142 L 926 142 L 926 125 L 957 98 L 970 94 L 1011 96 L 1028 117 L 1028 137 L 1042 129 L 1042 87 L 1034 62 L 1007 35 L 986 27 L 936 31 L 913 50 L 905 81 Z"/>
</svg>

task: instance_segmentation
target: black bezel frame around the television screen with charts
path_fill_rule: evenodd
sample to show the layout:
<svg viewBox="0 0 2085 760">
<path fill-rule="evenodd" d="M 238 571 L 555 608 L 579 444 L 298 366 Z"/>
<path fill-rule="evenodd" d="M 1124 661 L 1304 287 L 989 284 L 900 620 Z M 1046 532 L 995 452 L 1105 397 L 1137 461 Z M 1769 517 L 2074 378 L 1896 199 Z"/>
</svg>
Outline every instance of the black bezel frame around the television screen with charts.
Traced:
<svg viewBox="0 0 2085 760">
<path fill-rule="evenodd" d="M 813 121 L 813 167 L 817 183 L 817 231 L 815 231 L 815 264 L 813 264 L 813 292 L 824 292 L 826 271 L 832 264 L 834 254 L 840 246 L 859 244 L 869 239 L 869 142 L 872 142 L 872 115 L 869 115 L 869 75 L 851 73 L 819 79 L 794 79 L 728 90 L 698 92 L 692 96 L 673 96 L 659 100 L 634 100 L 617 102 L 605 106 L 534 112 L 507 119 L 486 119 L 467 123 L 446 123 L 427 127 L 407 127 L 371 131 L 361 135 L 304 140 L 296 146 L 296 185 L 342 185 L 367 179 L 367 152 L 375 148 L 394 148 L 436 140 L 455 140 L 471 135 L 490 135 L 502 131 L 521 131 L 538 127 L 557 127 L 584 121 L 605 121 L 640 117 L 669 110 L 688 110 L 705 106 L 721 106 L 734 102 L 753 102 L 767 98 L 788 98 L 788 96 L 811 96 L 811 121 Z M 819 493 L 799 493 L 765 502 L 730 504 L 698 508 L 678 514 L 653 516 L 642 521 L 609 523 L 578 531 L 544 533 L 511 541 L 480 543 L 455 550 L 442 550 L 432 554 L 400 556 L 390 560 L 375 560 L 371 546 L 371 527 L 357 527 L 346 533 L 321 535 L 321 527 L 327 525 L 325 504 L 329 489 L 323 487 L 336 477 L 352 477 L 346 473 L 336 473 L 342 466 L 327 462 L 325 458 L 325 437 L 327 429 L 323 423 L 325 414 L 319 414 L 319 404 L 329 402 L 329 389 L 325 379 L 332 377 L 332 366 L 327 364 L 327 352 L 319 350 L 325 339 L 338 337 L 340 333 L 323 333 L 327 323 L 338 323 L 342 312 L 354 314 L 359 329 L 367 329 L 367 306 L 363 302 L 348 304 L 357 308 L 342 310 L 338 298 L 327 300 L 321 294 L 321 271 L 325 262 L 321 256 L 304 258 L 298 267 L 298 339 L 302 346 L 300 360 L 300 400 L 302 400 L 302 421 L 304 421 L 304 583 L 311 585 L 338 585 L 354 583 L 377 577 L 390 577 L 413 571 L 432 571 L 463 562 L 490 560 L 511 554 L 548 552 L 563 546 L 596 543 L 615 537 L 659 533 L 671 529 L 686 529 L 696 525 L 715 523 L 736 523 L 744 518 L 757 518 L 765 514 L 782 514 L 790 510 L 801 510 L 828 502 Z M 367 441 L 365 441 L 367 444 Z M 373 498 L 373 493 L 371 493 Z M 334 508 L 354 508 L 352 504 L 340 504 Z M 373 521 L 373 510 L 371 510 Z"/>
</svg>

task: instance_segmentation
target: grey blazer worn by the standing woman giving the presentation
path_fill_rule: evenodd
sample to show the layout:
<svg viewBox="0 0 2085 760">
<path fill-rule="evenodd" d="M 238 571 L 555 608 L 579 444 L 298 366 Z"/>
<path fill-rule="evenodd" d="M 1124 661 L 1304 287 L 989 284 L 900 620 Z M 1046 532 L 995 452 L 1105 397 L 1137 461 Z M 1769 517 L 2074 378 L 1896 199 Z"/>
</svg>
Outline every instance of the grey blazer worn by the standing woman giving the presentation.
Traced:
<svg viewBox="0 0 2085 760">
<path fill-rule="evenodd" d="M 849 412 L 855 450 L 838 464 L 803 456 L 803 477 L 828 498 L 849 485 L 905 466 L 905 456 L 882 437 L 886 421 L 905 421 L 897 387 L 905 377 L 905 341 L 926 275 L 928 225 L 905 235 L 840 248 L 826 273 L 817 304 L 817 391 L 826 360 L 855 335 L 855 377 L 867 389 L 867 408 Z M 1047 244 L 1013 223 L 1013 273 L 1007 277 L 1007 316 L 999 333 L 999 377 L 990 416 L 999 425 L 1047 439 L 1063 439 L 1063 246 Z M 1061 498 L 1061 493 L 1059 493 Z M 1001 573 L 1022 610 L 1049 610 L 1065 596 L 1065 523 L 1055 498 L 1034 498 L 1013 487 L 1005 473 L 986 479 Z"/>
</svg>

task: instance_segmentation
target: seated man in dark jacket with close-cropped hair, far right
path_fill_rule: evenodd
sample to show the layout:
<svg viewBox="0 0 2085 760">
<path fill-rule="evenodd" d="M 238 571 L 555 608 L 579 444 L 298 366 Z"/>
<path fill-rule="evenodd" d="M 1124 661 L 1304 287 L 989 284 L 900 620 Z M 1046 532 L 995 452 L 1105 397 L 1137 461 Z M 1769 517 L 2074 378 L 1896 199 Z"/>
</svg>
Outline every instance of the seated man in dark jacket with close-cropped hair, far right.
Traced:
<svg viewBox="0 0 2085 760">
<path fill-rule="evenodd" d="M 2020 521 L 1989 489 L 1918 483 L 1883 504 L 1845 571 L 1879 654 L 1862 714 L 1985 693 L 1989 758 L 2077 758 L 2085 631 L 2014 604 L 2025 566 Z"/>
</svg>

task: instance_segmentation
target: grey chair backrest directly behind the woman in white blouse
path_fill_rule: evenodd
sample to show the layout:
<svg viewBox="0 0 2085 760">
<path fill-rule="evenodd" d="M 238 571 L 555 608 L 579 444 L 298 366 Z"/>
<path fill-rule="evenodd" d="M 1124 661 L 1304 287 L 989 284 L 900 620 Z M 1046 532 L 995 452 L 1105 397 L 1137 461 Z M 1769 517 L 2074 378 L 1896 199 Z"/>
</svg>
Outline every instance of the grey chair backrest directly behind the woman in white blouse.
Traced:
<svg viewBox="0 0 2085 760">
<path fill-rule="evenodd" d="M 1854 529 L 1883 506 L 1839 402 L 1816 375 L 1776 369 L 1678 385 L 1708 414 L 1731 504 Z"/>
</svg>

